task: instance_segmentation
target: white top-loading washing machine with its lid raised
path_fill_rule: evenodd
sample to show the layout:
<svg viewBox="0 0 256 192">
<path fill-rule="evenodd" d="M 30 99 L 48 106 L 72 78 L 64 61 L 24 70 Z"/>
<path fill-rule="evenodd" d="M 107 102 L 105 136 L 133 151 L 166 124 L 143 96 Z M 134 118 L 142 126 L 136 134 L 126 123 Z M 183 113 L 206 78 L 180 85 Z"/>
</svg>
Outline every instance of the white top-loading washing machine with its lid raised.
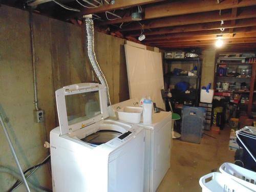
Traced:
<svg viewBox="0 0 256 192">
<path fill-rule="evenodd" d="M 109 116 L 105 87 L 56 91 L 59 127 L 50 132 L 53 191 L 143 191 L 144 130 Z"/>
</svg>

